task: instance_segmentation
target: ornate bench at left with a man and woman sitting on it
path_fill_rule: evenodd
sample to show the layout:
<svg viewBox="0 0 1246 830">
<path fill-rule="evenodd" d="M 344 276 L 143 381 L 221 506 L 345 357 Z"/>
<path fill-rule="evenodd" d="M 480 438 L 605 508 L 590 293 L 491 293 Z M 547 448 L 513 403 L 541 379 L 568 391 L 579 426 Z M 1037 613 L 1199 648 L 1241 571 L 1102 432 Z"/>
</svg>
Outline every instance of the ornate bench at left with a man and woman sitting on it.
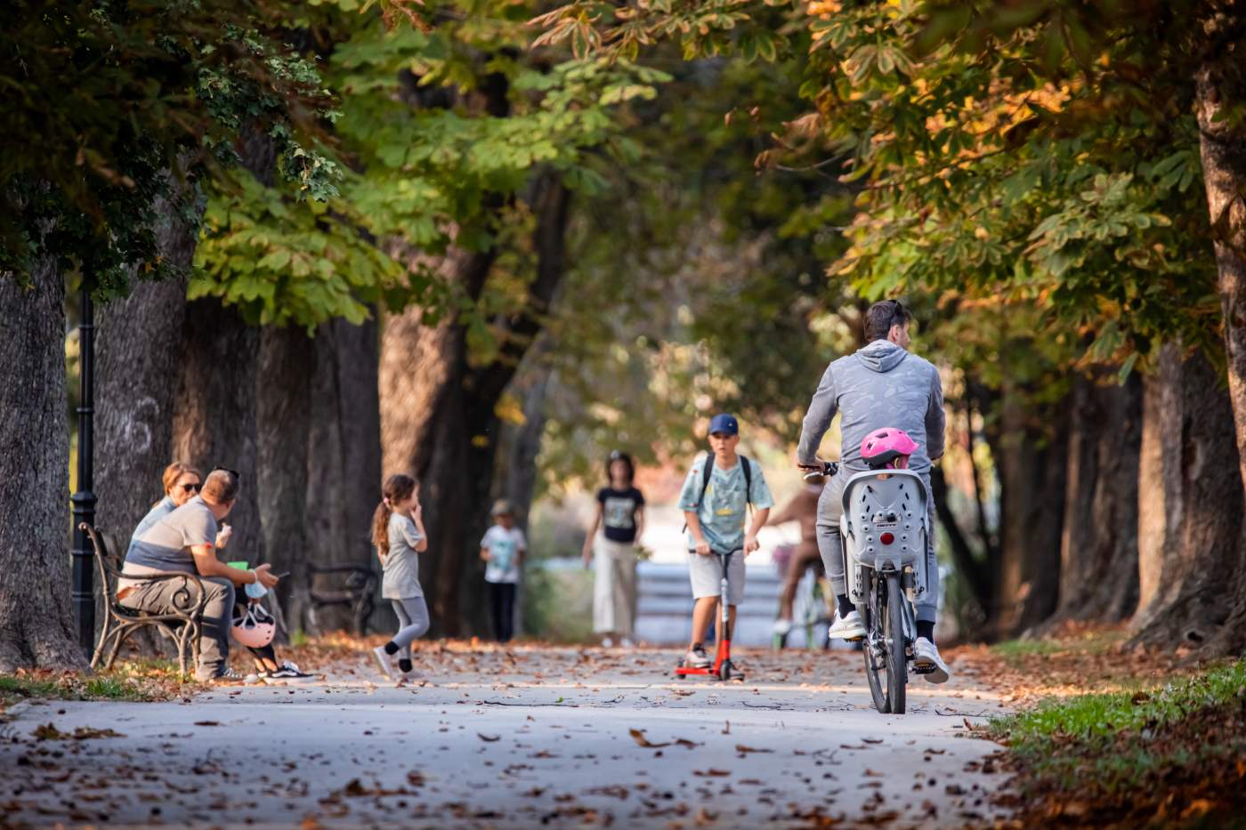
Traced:
<svg viewBox="0 0 1246 830">
<path fill-rule="evenodd" d="M 203 621 L 203 606 L 207 604 L 207 592 L 203 582 L 193 573 L 166 573 L 161 576 L 145 576 L 143 581 L 158 582 L 163 580 L 184 580 L 186 584 L 173 596 L 176 611 L 169 613 L 153 613 L 127 608 L 117 601 L 117 581 L 121 578 L 122 561 L 110 550 L 107 535 L 97 527 L 91 527 L 82 522 L 80 530 L 85 531 L 95 548 L 95 565 L 100 573 L 100 587 L 103 592 L 103 626 L 100 631 L 100 642 L 91 654 L 91 668 L 98 668 L 101 659 L 103 669 L 112 668 L 121 652 L 121 646 L 132 633 L 146 626 L 152 626 L 163 632 L 177 646 L 177 661 L 182 669 L 182 675 L 188 675 L 187 657 L 196 663 L 199 657 L 199 631 Z M 192 596 L 191 586 L 198 588 L 197 598 Z M 107 654 L 107 657 L 105 657 Z"/>
</svg>

